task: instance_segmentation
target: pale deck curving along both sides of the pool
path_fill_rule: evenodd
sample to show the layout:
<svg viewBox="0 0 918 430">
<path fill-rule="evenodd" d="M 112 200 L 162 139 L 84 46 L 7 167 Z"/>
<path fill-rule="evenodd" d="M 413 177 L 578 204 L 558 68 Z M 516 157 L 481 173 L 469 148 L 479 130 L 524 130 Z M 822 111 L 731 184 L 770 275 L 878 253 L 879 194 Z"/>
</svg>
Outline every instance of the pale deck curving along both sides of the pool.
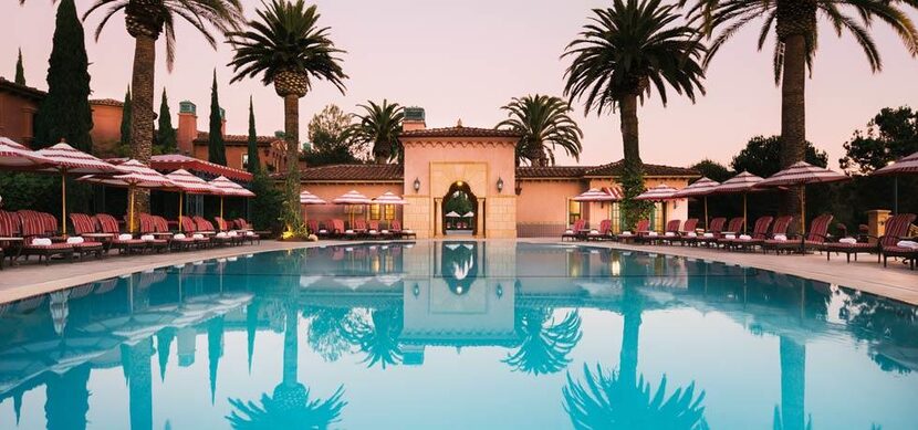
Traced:
<svg viewBox="0 0 918 430">
<path fill-rule="evenodd" d="M 599 248 L 613 248 L 629 251 L 644 251 L 660 254 L 687 256 L 727 264 L 757 268 L 787 273 L 815 281 L 827 282 L 857 289 L 867 293 L 890 297 L 900 302 L 918 305 L 918 271 L 910 271 L 898 261 L 889 262 L 889 268 L 877 264 L 876 255 L 860 255 L 859 261 L 845 262 L 844 255 L 834 256 L 826 262 L 823 254 L 775 255 L 761 252 L 727 252 L 707 248 L 628 245 L 614 242 L 559 242 L 557 239 L 526 238 L 518 239 L 529 243 L 564 243 Z M 14 268 L 4 266 L 0 272 L 0 303 L 12 302 L 38 294 L 119 276 L 145 270 L 191 263 L 200 260 L 246 255 L 258 252 L 290 250 L 319 245 L 355 243 L 342 241 L 322 242 L 278 242 L 262 241 L 260 244 L 219 248 L 194 252 L 175 252 L 135 256 L 111 255 L 103 260 L 76 262 L 52 262 L 50 266 L 30 262 Z"/>
</svg>

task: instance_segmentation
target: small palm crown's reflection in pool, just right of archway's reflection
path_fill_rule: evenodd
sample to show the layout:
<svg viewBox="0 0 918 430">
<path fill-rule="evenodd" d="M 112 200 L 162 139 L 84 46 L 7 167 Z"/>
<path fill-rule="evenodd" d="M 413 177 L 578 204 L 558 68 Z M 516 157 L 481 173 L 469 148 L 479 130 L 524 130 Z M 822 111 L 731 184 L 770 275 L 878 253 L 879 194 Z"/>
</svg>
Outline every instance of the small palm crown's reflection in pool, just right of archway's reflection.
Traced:
<svg viewBox="0 0 918 430">
<path fill-rule="evenodd" d="M 522 343 L 503 363 L 528 374 L 554 374 L 567 367 L 567 354 L 581 339 L 581 317 L 568 313 L 560 323 L 551 310 L 517 310 L 517 334 Z"/>
</svg>

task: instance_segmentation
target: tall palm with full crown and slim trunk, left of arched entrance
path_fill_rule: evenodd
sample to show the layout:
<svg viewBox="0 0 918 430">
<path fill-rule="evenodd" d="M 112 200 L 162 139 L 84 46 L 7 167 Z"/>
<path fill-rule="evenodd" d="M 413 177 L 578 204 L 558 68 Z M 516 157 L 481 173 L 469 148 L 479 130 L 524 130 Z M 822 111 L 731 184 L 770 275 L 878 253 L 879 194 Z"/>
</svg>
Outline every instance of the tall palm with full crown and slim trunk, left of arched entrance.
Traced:
<svg viewBox="0 0 918 430">
<path fill-rule="evenodd" d="M 229 65 L 236 76 L 230 82 L 261 75 L 264 85 L 284 102 L 286 138 L 286 208 L 288 231 L 300 230 L 300 98 L 312 88 L 313 80 L 331 82 L 344 94 L 347 75 L 341 67 L 336 49 L 328 38 L 328 28 L 319 27 L 315 6 L 303 0 L 272 0 L 259 10 L 258 20 L 249 22 L 248 31 L 229 33 L 236 54 Z"/>
</svg>

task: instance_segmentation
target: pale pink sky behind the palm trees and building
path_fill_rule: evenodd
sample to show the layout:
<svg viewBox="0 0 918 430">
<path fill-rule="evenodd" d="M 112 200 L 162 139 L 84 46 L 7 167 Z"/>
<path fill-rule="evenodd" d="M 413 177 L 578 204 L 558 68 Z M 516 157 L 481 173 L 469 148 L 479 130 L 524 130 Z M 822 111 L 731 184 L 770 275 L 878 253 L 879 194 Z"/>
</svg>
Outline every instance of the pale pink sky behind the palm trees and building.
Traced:
<svg viewBox="0 0 918 430">
<path fill-rule="evenodd" d="M 252 17 L 260 2 L 243 0 Z M 77 0 L 82 13 L 92 2 Z M 491 127 L 503 118 L 500 106 L 529 93 L 561 95 L 566 61 L 564 46 L 586 22 L 590 9 L 608 2 L 566 0 L 501 1 L 357 1 L 320 0 L 321 23 L 332 28 L 336 44 L 346 50 L 344 70 L 351 76 L 347 94 L 317 82 L 301 102 L 301 135 L 312 115 L 328 103 L 347 112 L 367 99 L 384 97 L 403 105 L 423 106 L 428 127 L 463 125 Z M 918 14 L 911 13 L 914 19 Z M 108 22 L 98 43 L 92 40 L 101 15 L 86 23 L 86 49 L 93 96 L 121 99 L 129 83 L 133 39 L 119 15 Z M 19 7 L 0 3 L 0 75 L 11 78 L 15 52 L 22 46 L 28 83 L 45 88 L 48 56 L 54 24 L 49 1 L 30 0 Z M 830 28 L 821 29 L 814 78 L 807 82 L 807 137 L 828 151 L 831 166 L 843 154 L 855 128 L 884 106 L 918 107 L 918 61 L 907 55 L 897 36 L 877 23 L 874 34 L 884 71 L 872 74 L 859 48 Z M 703 157 L 727 162 L 749 137 L 779 133 L 780 92 L 771 72 L 771 51 L 758 52 L 758 28 L 740 33 L 718 54 L 708 71 L 708 95 L 691 104 L 675 93 L 664 108 L 656 96 L 638 112 L 641 157 L 646 162 L 689 165 Z M 206 129 L 211 70 L 216 66 L 220 102 L 227 109 L 228 132 L 244 134 L 249 95 L 254 96 L 260 134 L 283 124 L 282 103 L 259 81 L 229 86 L 228 45 L 217 51 L 181 23 L 176 69 L 167 73 L 165 44 L 157 45 L 157 94 L 166 86 L 173 113 L 178 102 L 198 105 L 198 125 Z M 156 98 L 159 105 L 159 97 Z M 582 164 L 622 157 L 618 118 L 614 115 L 576 118 L 584 130 Z M 174 118 L 174 124 L 177 124 Z M 560 157 L 559 164 L 573 160 Z"/>
</svg>

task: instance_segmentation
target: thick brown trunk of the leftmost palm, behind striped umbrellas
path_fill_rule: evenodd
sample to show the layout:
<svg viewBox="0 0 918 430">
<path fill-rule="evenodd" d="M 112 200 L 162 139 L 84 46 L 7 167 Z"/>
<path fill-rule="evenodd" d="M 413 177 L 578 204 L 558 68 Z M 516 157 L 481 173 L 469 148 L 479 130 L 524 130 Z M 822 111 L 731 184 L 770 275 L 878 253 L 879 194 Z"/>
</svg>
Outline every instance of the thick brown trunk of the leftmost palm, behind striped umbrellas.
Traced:
<svg viewBox="0 0 918 430">
<path fill-rule="evenodd" d="M 138 34 L 134 40 L 134 72 L 131 98 L 131 157 L 149 164 L 153 153 L 153 92 L 156 66 L 156 39 Z M 149 191 L 137 190 L 135 213 L 149 212 Z"/>
</svg>

